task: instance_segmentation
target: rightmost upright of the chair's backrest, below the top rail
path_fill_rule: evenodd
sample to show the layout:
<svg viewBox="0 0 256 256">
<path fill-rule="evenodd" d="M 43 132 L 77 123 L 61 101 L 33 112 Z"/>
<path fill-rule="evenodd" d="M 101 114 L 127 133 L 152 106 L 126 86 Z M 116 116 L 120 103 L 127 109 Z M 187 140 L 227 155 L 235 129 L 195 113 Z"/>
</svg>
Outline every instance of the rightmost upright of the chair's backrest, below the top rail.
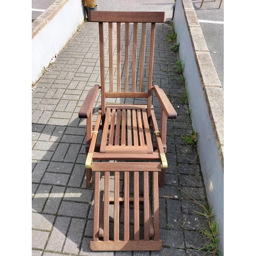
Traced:
<svg viewBox="0 0 256 256">
<path fill-rule="evenodd" d="M 147 117 L 151 116 L 155 30 L 156 30 L 156 24 L 152 23 L 151 34 L 150 34 L 150 59 L 148 61 L 148 78 L 147 78 Z"/>
</svg>

